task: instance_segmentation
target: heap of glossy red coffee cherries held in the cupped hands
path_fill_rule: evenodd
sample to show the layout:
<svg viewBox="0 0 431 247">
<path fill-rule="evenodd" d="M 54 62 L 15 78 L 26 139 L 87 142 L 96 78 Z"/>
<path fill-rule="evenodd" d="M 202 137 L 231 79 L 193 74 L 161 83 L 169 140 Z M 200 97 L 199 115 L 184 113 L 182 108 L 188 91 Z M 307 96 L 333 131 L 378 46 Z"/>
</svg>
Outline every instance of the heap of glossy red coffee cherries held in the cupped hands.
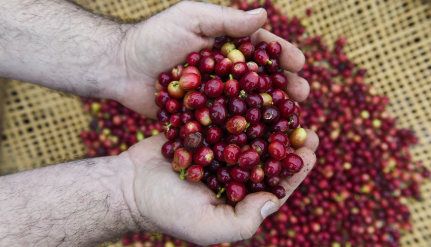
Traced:
<svg viewBox="0 0 431 247">
<path fill-rule="evenodd" d="M 282 90 L 278 42 L 219 37 L 213 49 L 192 52 L 187 64 L 159 75 L 157 118 L 166 126 L 162 153 L 180 179 L 226 192 L 235 205 L 248 193 L 283 198 L 281 179 L 303 167 L 295 149 L 306 139 L 300 108 Z"/>
</svg>

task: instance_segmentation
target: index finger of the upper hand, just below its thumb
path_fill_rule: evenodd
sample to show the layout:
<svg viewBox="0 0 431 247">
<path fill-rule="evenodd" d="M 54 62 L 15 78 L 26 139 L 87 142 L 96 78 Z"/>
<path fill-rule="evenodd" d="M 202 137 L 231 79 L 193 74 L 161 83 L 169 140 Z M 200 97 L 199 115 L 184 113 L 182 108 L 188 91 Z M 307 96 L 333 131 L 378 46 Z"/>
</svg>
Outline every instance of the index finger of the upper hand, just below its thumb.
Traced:
<svg viewBox="0 0 431 247">
<path fill-rule="evenodd" d="M 276 36 L 270 31 L 261 28 L 257 32 L 253 33 L 251 38 L 253 44 L 257 44 L 261 41 L 265 41 L 267 43 L 271 41 L 279 42 L 282 46 L 282 54 L 280 54 L 279 56 L 279 63 L 281 68 L 289 70 L 291 72 L 298 72 L 304 66 L 304 54 L 294 45 Z"/>
</svg>

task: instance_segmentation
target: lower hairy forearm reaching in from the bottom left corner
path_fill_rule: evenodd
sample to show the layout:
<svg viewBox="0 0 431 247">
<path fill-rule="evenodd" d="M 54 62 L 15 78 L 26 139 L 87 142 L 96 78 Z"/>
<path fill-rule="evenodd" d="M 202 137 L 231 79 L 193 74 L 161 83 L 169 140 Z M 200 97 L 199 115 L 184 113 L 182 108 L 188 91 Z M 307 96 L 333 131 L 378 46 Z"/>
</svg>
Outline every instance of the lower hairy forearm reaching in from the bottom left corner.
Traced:
<svg viewBox="0 0 431 247">
<path fill-rule="evenodd" d="M 91 246 L 134 229 L 126 166 L 115 156 L 0 177 L 0 246 Z"/>
</svg>

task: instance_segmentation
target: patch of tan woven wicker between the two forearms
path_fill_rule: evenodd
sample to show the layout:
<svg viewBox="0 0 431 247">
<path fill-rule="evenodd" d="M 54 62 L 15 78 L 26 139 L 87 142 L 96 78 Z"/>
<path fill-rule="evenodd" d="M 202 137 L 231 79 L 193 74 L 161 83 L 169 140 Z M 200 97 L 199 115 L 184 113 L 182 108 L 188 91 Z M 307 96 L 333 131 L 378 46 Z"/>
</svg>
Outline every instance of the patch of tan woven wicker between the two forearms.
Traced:
<svg viewBox="0 0 431 247">
<path fill-rule="evenodd" d="M 89 116 L 77 97 L 18 81 L 6 94 L 0 175 L 85 154 L 78 135 Z"/>
</svg>

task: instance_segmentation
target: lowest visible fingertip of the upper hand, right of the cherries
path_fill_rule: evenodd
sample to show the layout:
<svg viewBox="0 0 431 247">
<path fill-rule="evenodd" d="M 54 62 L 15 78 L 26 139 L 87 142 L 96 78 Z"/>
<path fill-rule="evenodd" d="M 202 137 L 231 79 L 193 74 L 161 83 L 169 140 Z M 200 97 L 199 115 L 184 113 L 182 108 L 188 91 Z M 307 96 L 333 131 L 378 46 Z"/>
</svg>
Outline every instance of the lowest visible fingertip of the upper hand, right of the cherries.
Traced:
<svg viewBox="0 0 431 247">
<path fill-rule="evenodd" d="M 287 86 L 284 90 L 289 97 L 297 102 L 305 100 L 310 94 L 310 84 L 291 72 L 285 71 L 284 75 L 287 78 Z"/>
</svg>

